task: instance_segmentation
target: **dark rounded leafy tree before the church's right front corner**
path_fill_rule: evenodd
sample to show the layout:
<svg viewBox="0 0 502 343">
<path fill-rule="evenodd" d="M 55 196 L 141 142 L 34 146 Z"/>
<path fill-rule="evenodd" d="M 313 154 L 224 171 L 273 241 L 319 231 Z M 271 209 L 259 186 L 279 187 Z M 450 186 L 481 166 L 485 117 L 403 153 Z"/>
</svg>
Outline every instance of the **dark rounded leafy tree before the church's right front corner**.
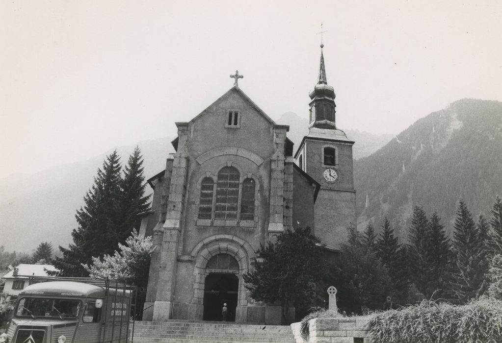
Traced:
<svg viewBox="0 0 502 343">
<path fill-rule="evenodd" d="M 315 282 L 323 275 L 319 242 L 308 227 L 287 230 L 275 243 L 260 247 L 257 255 L 263 263 L 243 275 L 253 299 L 281 303 L 283 324 L 291 305 L 301 305 L 315 296 Z"/>
</svg>

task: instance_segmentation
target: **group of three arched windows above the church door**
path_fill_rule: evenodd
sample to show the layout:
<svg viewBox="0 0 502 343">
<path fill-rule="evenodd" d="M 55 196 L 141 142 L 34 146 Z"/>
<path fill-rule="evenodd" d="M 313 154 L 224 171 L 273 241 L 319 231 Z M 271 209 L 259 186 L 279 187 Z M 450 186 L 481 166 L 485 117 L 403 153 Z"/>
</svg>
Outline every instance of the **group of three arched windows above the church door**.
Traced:
<svg viewBox="0 0 502 343">
<path fill-rule="evenodd" d="M 216 183 L 202 179 L 199 219 L 254 220 L 256 182 L 246 178 L 240 183 L 239 171 L 226 166 L 220 169 Z"/>
</svg>

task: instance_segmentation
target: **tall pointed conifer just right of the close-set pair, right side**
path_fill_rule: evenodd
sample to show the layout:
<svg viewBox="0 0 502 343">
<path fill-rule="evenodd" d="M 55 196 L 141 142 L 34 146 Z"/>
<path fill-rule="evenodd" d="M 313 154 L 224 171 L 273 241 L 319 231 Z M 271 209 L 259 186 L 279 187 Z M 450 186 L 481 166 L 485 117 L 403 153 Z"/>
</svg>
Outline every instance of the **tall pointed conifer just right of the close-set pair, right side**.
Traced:
<svg viewBox="0 0 502 343">
<path fill-rule="evenodd" d="M 455 219 L 452 253 L 453 273 L 450 288 L 457 301 L 465 303 L 483 294 L 487 261 L 485 240 L 481 227 L 476 226 L 467 206 L 460 200 Z"/>
</svg>

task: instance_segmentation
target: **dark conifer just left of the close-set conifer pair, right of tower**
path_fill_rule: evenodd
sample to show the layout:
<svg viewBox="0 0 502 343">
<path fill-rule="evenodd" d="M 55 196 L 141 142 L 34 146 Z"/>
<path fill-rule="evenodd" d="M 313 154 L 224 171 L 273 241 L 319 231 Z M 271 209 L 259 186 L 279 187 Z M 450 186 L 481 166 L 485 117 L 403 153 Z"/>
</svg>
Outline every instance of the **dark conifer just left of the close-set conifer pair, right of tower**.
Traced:
<svg viewBox="0 0 502 343">
<path fill-rule="evenodd" d="M 393 285 L 393 299 L 403 303 L 408 294 L 408 268 L 406 266 L 406 251 L 394 236 L 394 230 L 387 217 L 384 219 L 382 231 L 375 245 L 376 256 L 389 271 Z"/>
</svg>

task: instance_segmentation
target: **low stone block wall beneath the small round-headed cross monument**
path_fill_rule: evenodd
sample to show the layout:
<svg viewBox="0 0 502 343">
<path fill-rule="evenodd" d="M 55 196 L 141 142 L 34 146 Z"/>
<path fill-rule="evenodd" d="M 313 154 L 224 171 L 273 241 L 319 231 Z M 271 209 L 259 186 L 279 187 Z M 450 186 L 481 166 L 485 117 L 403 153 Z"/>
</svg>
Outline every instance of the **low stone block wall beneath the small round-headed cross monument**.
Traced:
<svg viewBox="0 0 502 343">
<path fill-rule="evenodd" d="M 309 321 L 308 342 L 300 336 L 300 323 L 291 324 L 297 343 L 371 343 L 366 337 L 369 317 L 315 318 Z"/>
</svg>

